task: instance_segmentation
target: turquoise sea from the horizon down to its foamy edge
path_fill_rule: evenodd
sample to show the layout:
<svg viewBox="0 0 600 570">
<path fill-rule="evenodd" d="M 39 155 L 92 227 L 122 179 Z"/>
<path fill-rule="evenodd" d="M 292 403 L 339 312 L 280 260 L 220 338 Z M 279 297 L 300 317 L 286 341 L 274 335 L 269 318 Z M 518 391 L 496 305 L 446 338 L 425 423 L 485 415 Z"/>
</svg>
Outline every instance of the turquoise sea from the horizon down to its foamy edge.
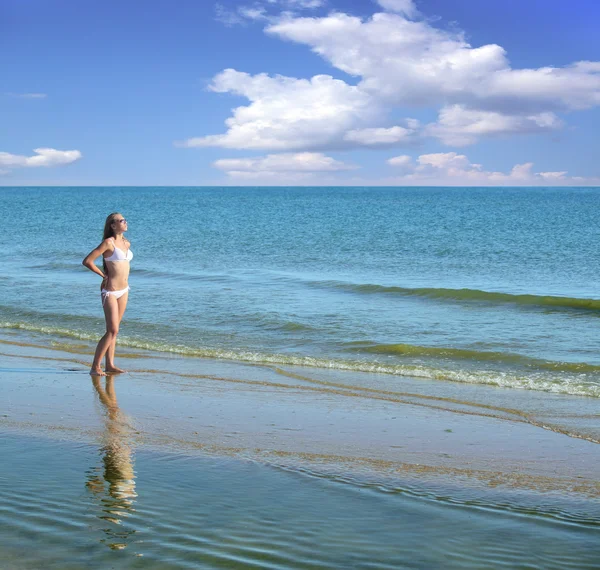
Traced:
<svg viewBox="0 0 600 570">
<path fill-rule="evenodd" d="M 600 397 L 600 189 L 4 188 L 0 327 L 96 339 L 117 210 L 121 346 Z"/>
</svg>

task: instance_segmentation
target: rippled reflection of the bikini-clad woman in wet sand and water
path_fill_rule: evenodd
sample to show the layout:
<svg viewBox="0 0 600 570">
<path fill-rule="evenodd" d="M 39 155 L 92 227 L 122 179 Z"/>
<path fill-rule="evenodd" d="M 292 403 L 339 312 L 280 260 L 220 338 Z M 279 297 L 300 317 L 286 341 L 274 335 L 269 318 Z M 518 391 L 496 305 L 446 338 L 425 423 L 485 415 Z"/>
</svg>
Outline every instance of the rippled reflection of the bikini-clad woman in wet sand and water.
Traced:
<svg viewBox="0 0 600 570">
<path fill-rule="evenodd" d="M 107 538 L 102 542 L 112 549 L 123 549 L 135 533 L 116 526 L 135 511 L 133 427 L 119 409 L 114 378 L 106 376 L 104 387 L 99 377 L 92 378 L 92 384 L 103 407 L 105 429 L 100 448 L 103 467 L 95 466 L 88 471 L 86 486 L 99 500 L 102 511 L 99 518 L 110 523 L 103 529 Z"/>
</svg>

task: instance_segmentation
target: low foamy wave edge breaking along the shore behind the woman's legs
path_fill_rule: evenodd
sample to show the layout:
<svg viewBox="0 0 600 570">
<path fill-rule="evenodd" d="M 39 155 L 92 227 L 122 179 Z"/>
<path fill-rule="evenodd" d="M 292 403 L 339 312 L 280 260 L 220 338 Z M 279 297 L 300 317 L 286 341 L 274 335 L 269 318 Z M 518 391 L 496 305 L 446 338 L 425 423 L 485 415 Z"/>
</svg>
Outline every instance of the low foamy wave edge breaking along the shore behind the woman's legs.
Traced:
<svg viewBox="0 0 600 570">
<path fill-rule="evenodd" d="M 38 315 L 40 316 L 40 315 Z M 46 318 L 47 315 L 44 316 Z M 98 338 L 96 333 L 69 330 L 54 326 L 35 326 L 23 322 L 5 322 L 2 336 L 45 337 L 52 341 L 51 348 L 69 353 L 88 354 L 89 345 Z M 214 340 L 214 339 L 213 339 Z M 222 340 L 222 339 L 221 339 Z M 363 345 L 364 344 L 364 345 Z M 461 384 L 553 393 L 565 396 L 600 398 L 600 365 L 594 362 L 548 360 L 528 356 L 517 349 L 513 352 L 472 351 L 445 346 L 410 344 L 373 344 L 352 342 L 332 354 L 308 354 L 277 349 L 234 348 L 232 346 L 194 347 L 169 344 L 163 341 L 123 335 L 121 350 L 131 355 L 167 355 L 167 358 L 233 361 L 258 366 L 295 367 L 311 370 L 339 370 L 342 373 L 374 374 L 378 377 L 419 378 Z M 25 344 L 23 345 L 25 346 Z M 37 346 L 37 345 L 32 345 Z M 76 347 L 76 348 L 74 348 Z M 354 358 L 356 350 L 362 354 Z M 463 363 L 466 366 L 457 366 Z M 598 438 L 600 443 L 600 430 Z"/>
</svg>

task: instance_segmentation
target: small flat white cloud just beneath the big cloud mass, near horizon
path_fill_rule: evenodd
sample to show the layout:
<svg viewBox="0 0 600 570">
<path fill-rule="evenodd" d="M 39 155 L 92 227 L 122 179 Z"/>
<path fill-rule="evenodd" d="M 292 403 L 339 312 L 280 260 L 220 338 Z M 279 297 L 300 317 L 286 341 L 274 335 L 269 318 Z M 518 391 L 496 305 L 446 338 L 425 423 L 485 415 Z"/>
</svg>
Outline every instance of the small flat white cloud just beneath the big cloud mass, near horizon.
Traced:
<svg viewBox="0 0 600 570">
<path fill-rule="evenodd" d="M 319 152 L 268 154 L 253 158 L 224 158 L 213 163 L 215 168 L 228 174 L 241 172 L 335 172 L 355 170 L 357 167 Z"/>
</svg>

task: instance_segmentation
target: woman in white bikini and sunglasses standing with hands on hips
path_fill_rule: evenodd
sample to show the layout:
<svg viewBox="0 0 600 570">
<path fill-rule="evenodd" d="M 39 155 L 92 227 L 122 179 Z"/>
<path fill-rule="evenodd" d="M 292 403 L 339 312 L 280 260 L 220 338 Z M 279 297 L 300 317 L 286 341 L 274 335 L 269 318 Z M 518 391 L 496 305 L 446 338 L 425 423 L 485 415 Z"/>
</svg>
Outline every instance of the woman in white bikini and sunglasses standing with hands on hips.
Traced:
<svg viewBox="0 0 600 570">
<path fill-rule="evenodd" d="M 106 218 L 102 243 L 83 260 L 83 265 L 90 271 L 102 277 L 100 293 L 104 318 L 106 319 L 106 334 L 100 339 L 96 347 L 94 362 L 90 374 L 93 376 L 106 376 L 106 373 L 118 374 L 125 372 L 115 366 L 115 346 L 119 324 L 125 313 L 127 297 L 129 296 L 129 262 L 133 258 L 130 243 L 123 235 L 127 231 L 127 220 L 115 212 Z M 94 263 L 103 256 L 101 271 Z M 106 356 L 105 372 L 100 368 L 102 359 Z"/>
</svg>

